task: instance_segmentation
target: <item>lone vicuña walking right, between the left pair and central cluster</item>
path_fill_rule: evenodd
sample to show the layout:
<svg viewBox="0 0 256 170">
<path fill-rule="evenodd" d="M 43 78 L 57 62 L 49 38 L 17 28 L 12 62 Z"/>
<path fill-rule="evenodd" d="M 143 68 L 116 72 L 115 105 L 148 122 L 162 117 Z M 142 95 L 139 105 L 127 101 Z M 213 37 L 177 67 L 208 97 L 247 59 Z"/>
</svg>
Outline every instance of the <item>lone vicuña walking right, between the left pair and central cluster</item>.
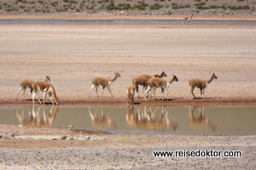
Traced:
<svg viewBox="0 0 256 170">
<path fill-rule="evenodd" d="M 96 88 L 96 94 L 97 94 L 97 98 L 99 97 L 98 95 L 98 88 L 99 86 L 101 85 L 102 86 L 102 95 L 103 95 L 103 92 L 104 92 L 104 89 L 105 88 L 108 88 L 108 91 L 110 92 L 110 94 L 112 95 L 113 97 L 113 94 L 111 93 L 111 90 L 110 90 L 110 85 L 118 78 L 118 77 L 121 77 L 120 73 L 119 72 L 115 72 L 114 73 L 114 77 L 113 79 L 108 79 L 108 78 L 104 78 L 104 77 L 95 77 L 92 79 L 92 86 L 90 88 L 90 93 L 91 93 L 91 90 L 93 88 Z M 89 93 L 89 97 L 90 97 L 90 93 Z"/>
</svg>

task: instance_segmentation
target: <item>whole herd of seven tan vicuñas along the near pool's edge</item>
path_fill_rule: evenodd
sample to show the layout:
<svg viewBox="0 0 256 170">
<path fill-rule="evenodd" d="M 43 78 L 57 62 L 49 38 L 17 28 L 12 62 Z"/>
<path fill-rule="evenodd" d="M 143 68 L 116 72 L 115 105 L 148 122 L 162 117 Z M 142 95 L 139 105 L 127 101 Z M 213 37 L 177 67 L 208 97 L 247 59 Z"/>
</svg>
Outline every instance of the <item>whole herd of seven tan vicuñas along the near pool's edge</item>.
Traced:
<svg viewBox="0 0 256 170">
<path fill-rule="evenodd" d="M 96 89 L 96 96 L 97 98 L 99 97 L 97 91 L 99 86 L 102 86 L 102 95 L 103 92 L 105 90 L 105 88 L 108 88 L 109 93 L 112 95 L 113 94 L 110 90 L 110 86 L 113 82 L 115 82 L 117 80 L 117 78 L 121 77 L 119 72 L 115 72 L 114 73 L 114 77 L 113 79 L 108 79 L 105 77 L 95 77 L 91 80 L 92 82 L 92 86 L 90 88 L 90 92 L 89 92 L 89 98 L 90 98 L 90 93 L 91 91 L 95 88 Z M 144 99 L 147 100 L 149 98 L 149 96 L 153 93 L 154 94 L 154 98 L 156 97 L 155 95 L 155 90 L 156 88 L 160 88 L 161 89 L 161 93 L 162 93 L 162 99 L 166 99 L 167 95 L 169 94 L 168 92 L 168 88 L 169 86 L 172 84 L 172 82 L 178 82 L 178 79 L 176 76 L 172 76 L 172 79 L 170 81 L 166 81 L 165 79 L 163 79 L 163 77 L 167 77 L 165 71 L 162 71 L 160 75 L 156 74 L 154 76 L 150 76 L 150 75 L 141 75 L 139 77 L 135 77 L 132 79 L 132 84 L 128 85 L 126 87 L 126 103 L 128 105 L 130 104 L 134 104 L 134 94 L 135 92 L 137 92 L 138 94 L 138 98 L 140 98 L 140 94 L 139 94 L 139 88 L 142 87 L 143 88 L 143 94 L 144 94 Z M 216 77 L 216 75 L 213 73 L 212 77 L 206 81 L 206 80 L 202 80 L 199 78 L 196 79 L 191 79 L 189 81 L 189 86 L 191 87 L 190 90 L 190 99 L 192 99 L 192 95 L 194 98 L 195 94 L 194 94 L 194 89 L 196 88 L 200 88 L 201 91 L 201 95 L 203 97 L 203 99 L 205 99 L 204 96 L 204 91 L 207 88 L 207 85 L 212 82 L 213 79 L 217 79 L 218 77 Z M 23 90 L 23 98 L 25 99 L 25 92 L 26 92 L 26 88 L 30 89 L 30 94 L 28 96 L 28 99 L 30 99 L 31 95 L 32 95 L 32 103 L 34 105 L 34 99 L 37 98 L 38 99 L 38 92 L 43 92 L 44 94 L 44 103 L 45 103 L 45 98 L 47 96 L 47 94 L 49 94 L 49 99 L 52 102 L 52 105 L 59 105 L 59 98 L 57 97 L 56 93 L 55 93 L 55 88 L 49 83 L 50 82 L 50 77 L 46 76 L 44 82 L 43 81 L 33 81 L 33 80 L 29 80 L 29 79 L 24 79 L 20 81 L 20 89 L 17 92 L 17 98 L 20 94 L 20 92 Z M 165 95 L 166 92 L 166 95 Z M 33 94 L 32 94 L 33 93 Z M 198 97 L 200 98 L 201 95 Z M 55 98 L 55 101 L 53 99 L 53 97 Z M 38 102 L 40 105 L 42 105 L 40 99 L 38 99 Z"/>
</svg>

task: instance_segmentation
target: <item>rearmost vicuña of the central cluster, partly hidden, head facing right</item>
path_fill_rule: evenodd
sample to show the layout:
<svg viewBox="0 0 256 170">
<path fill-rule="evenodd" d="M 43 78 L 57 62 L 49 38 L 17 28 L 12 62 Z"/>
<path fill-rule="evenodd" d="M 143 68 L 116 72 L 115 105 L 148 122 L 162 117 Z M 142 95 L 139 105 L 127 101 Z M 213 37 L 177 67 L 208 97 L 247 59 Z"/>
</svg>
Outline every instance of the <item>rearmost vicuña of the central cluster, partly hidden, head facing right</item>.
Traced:
<svg viewBox="0 0 256 170">
<path fill-rule="evenodd" d="M 159 75 L 159 74 L 156 74 L 154 75 L 154 77 L 167 77 L 165 71 L 162 71 L 162 73 Z M 148 79 L 150 78 L 153 78 L 152 76 L 149 76 L 149 75 L 142 75 L 140 77 L 135 77 L 132 79 L 132 83 L 136 86 L 136 90 L 137 90 L 137 95 L 138 95 L 138 98 L 140 97 L 140 94 L 138 92 L 138 88 L 139 86 L 143 86 L 143 93 L 145 91 L 145 88 L 148 87 Z"/>
</svg>

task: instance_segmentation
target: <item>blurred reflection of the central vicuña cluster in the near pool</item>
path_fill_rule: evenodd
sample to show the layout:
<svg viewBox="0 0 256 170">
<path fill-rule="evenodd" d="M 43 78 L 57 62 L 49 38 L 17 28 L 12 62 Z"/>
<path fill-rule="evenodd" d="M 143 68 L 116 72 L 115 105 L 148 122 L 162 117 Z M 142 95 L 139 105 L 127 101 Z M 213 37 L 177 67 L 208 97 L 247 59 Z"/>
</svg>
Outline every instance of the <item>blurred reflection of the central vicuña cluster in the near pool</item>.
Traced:
<svg viewBox="0 0 256 170">
<path fill-rule="evenodd" d="M 156 111 L 161 108 L 160 117 L 156 117 Z M 143 110 L 143 111 L 142 111 Z M 170 122 L 168 119 L 168 111 L 165 106 L 156 107 L 152 111 L 152 107 L 145 106 L 144 109 L 137 108 L 137 113 L 134 112 L 134 106 L 126 107 L 126 122 L 130 127 L 137 129 L 150 129 L 155 131 L 165 131 L 167 127 L 172 127 L 172 130 L 177 129 L 177 123 Z"/>
</svg>

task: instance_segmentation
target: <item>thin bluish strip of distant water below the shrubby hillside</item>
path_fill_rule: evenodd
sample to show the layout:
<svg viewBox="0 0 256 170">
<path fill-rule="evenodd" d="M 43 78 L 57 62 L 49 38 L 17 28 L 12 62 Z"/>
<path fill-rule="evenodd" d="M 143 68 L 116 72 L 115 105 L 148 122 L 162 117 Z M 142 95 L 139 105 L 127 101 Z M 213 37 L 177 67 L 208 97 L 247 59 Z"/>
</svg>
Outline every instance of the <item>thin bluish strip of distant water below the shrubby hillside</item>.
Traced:
<svg viewBox="0 0 256 170">
<path fill-rule="evenodd" d="M 40 24 L 40 25 L 145 25 L 183 24 L 183 20 L 0 20 L 0 25 Z M 191 20 L 189 25 L 256 25 L 256 21 L 234 20 Z"/>
</svg>

